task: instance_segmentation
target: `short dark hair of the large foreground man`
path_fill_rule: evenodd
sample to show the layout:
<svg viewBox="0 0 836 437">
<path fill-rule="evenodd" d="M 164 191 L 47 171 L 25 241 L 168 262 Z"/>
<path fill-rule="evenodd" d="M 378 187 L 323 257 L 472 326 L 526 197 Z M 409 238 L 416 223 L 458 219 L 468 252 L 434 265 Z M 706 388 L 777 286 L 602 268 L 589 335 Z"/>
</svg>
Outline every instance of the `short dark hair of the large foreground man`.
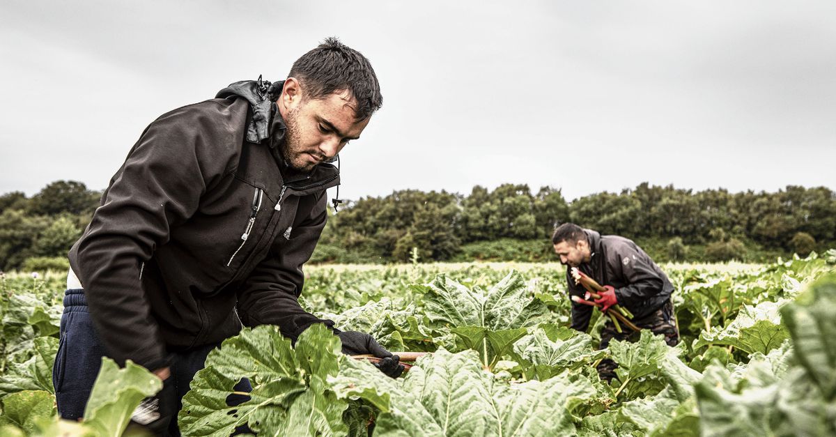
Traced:
<svg viewBox="0 0 836 437">
<path fill-rule="evenodd" d="M 288 77 L 299 80 L 308 99 L 349 90 L 357 100 L 357 120 L 370 117 L 383 105 L 380 84 L 369 59 L 334 37 L 326 38 L 319 47 L 296 59 Z"/>
</svg>

